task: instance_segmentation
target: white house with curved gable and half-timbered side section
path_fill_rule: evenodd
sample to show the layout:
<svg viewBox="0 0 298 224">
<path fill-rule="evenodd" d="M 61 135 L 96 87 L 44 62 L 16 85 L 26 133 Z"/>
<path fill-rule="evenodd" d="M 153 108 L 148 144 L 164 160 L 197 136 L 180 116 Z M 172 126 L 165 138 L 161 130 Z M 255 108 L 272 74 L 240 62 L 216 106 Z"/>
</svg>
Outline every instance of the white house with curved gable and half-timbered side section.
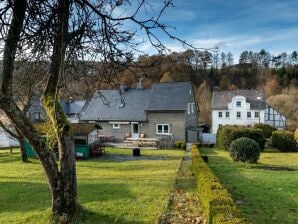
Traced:
<svg viewBox="0 0 298 224">
<path fill-rule="evenodd" d="M 213 91 L 211 109 L 213 134 L 223 125 L 286 124 L 282 114 L 266 105 L 262 90 Z"/>
</svg>

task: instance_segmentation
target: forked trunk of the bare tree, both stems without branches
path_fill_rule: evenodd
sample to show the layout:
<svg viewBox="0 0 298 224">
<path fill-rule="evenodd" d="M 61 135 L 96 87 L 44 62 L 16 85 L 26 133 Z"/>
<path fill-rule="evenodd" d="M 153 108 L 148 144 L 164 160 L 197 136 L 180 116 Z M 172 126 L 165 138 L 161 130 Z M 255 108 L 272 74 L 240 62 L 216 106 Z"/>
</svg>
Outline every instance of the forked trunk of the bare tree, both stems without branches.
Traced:
<svg viewBox="0 0 298 224">
<path fill-rule="evenodd" d="M 12 100 L 12 74 L 16 50 L 25 18 L 27 1 L 18 0 L 14 4 L 12 21 L 4 47 L 0 107 L 5 111 L 6 115 L 15 124 L 21 134 L 28 139 L 41 161 L 52 193 L 53 214 L 58 217 L 64 216 L 64 214 L 72 217 L 76 210 L 77 196 L 73 142 L 67 119 L 56 98 L 58 79 L 65 57 L 70 2 L 69 0 L 61 0 L 58 3 L 59 26 L 55 32 L 50 76 L 43 96 L 45 109 L 57 135 L 60 170 L 54 159 L 52 150 L 49 149 L 42 136 L 36 132 L 33 124 Z"/>
</svg>

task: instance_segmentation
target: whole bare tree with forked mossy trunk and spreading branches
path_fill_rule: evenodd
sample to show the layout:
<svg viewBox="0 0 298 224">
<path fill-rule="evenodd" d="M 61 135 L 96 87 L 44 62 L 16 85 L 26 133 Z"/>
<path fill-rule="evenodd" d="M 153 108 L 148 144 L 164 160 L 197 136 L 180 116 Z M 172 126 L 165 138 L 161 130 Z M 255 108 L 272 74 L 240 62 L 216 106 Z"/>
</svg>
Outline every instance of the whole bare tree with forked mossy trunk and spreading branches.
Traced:
<svg viewBox="0 0 298 224">
<path fill-rule="evenodd" d="M 127 23 L 140 28 L 159 52 L 166 47 L 158 32 L 188 44 L 170 34 L 168 27 L 160 22 L 166 8 L 173 5 L 171 0 L 165 0 L 159 13 L 152 15 L 145 0 L 130 6 L 125 0 L 7 0 L 3 3 L 0 41 L 5 45 L 0 108 L 37 153 L 52 193 L 53 214 L 58 218 L 65 214 L 72 217 L 77 209 L 76 164 L 70 125 L 58 101 L 61 88 L 66 87 L 67 80 L 75 78 L 69 76 L 71 71 L 80 63 L 92 67 L 92 62 L 100 60 L 99 68 L 94 67 L 91 75 L 111 80 L 115 70 L 131 61 L 133 52 L 138 50 L 137 31 L 127 29 Z M 129 15 L 117 13 L 123 7 L 135 10 Z M 42 104 L 58 142 L 59 163 L 54 159 L 53 149 L 15 100 L 16 60 L 48 64 L 40 78 L 47 80 Z"/>
</svg>

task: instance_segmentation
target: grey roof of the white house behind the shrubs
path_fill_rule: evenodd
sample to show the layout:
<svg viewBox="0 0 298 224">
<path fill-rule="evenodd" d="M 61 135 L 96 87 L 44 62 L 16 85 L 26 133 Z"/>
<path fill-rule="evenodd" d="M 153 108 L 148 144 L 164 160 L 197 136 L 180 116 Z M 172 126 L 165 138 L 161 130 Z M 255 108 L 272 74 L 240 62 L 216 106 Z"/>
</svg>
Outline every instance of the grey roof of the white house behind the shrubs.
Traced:
<svg viewBox="0 0 298 224">
<path fill-rule="evenodd" d="M 266 108 L 265 93 L 262 90 L 213 91 L 211 108 L 213 110 L 228 109 L 228 104 L 235 96 L 245 97 L 251 109 Z M 261 99 L 258 100 L 258 97 Z"/>
</svg>

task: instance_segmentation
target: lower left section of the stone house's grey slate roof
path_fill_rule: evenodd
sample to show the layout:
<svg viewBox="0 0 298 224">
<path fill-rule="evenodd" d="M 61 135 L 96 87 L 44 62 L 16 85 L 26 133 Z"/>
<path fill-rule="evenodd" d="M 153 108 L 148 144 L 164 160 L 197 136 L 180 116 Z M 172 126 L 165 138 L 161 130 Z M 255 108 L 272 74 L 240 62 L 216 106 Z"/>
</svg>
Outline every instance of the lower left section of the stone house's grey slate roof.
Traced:
<svg viewBox="0 0 298 224">
<path fill-rule="evenodd" d="M 120 107 L 119 90 L 97 91 L 82 113 L 81 120 L 146 121 L 145 108 L 150 89 L 128 89 L 123 94 L 124 107 Z"/>
</svg>

